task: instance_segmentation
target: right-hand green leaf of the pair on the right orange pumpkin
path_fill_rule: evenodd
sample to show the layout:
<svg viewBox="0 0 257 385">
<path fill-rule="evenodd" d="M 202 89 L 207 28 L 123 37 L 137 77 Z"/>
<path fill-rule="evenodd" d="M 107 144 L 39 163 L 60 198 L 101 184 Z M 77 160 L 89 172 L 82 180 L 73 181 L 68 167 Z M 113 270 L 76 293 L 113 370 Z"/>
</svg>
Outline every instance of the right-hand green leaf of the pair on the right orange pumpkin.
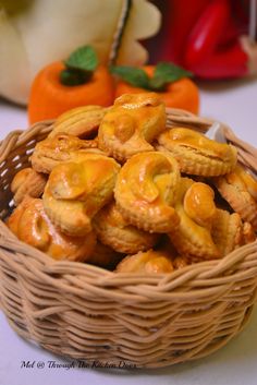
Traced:
<svg viewBox="0 0 257 385">
<path fill-rule="evenodd" d="M 160 62 L 156 65 L 154 76 L 150 80 L 152 91 L 164 91 L 168 83 L 173 83 L 182 77 L 193 76 L 193 73 L 169 62 Z"/>
</svg>

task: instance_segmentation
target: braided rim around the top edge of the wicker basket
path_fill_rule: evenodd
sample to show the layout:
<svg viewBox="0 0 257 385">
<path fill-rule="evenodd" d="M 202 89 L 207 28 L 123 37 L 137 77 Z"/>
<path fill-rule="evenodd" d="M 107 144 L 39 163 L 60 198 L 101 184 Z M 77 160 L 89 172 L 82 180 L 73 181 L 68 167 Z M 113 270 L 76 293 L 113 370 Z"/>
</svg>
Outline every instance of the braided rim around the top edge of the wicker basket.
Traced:
<svg viewBox="0 0 257 385">
<path fill-rule="evenodd" d="M 198 131 L 205 133 L 207 129 L 216 122 L 216 120 L 212 119 L 207 119 L 203 117 L 195 116 L 192 112 L 188 112 L 183 109 L 175 109 L 175 108 L 167 108 L 167 115 L 168 115 L 168 127 L 173 127 L 178 125 L 178 121 L 182 121 L 185 127 L 187 124 L 196 124 L 198 125 L 197 129 Z M 46 133 L 50 132 L 51 125 L 54 120 L 45 120 L 37 122 L 33 124 L 32 127 L 27 128 L 26 130 L 15 130 L 11 131 L 5 139 L 3 139 L 0 142 L 0 164 L 4 161 L 4 158 L 7 158 L 8 154 L 14 149 L 17 148 L 19 146 L 23 145 L 26 142 L 29 142 L 30 140 L 34 139 L 34 136 L 39 133 L 46 131 Z M 220 122 L 219 122 L 220 123 Z M 257 149 L 253 146 L 250 146 L 248 143 L 243 142 L 240 140 L 233 131 L 223 123 L 220 123 L 222 128 L 224 129 L 224 134 L 229 143 L 232 143 L 234 146 L 236 146 L 237 149 L 243 152 L 243 154 L 249 155 L 249 159 L 247 158 L 247 161 L 245 161 L 245 156 L 242 157 L 241 161 L 244 164 L 245 167 L 250 168 L 252 170 L 254 169 L 255 172 L 257 172 Z M 253 161 L 254 159 L 254 161 Z M 204 277 L 211 277 L 215 276 L 218 270 L 225 270 L 235 260 L 241 260 L 240 254 L 242 254 L 242 258 L 246 252 L 257 252 L 257 241 L 243 245 L 228 255 L 225 255 L 221 260 L 211 260 L 211 261 L 201 261 L 194 263 L 192 265 L 182 267 L 180 269 L 173 270 L 171 273 L 166 273 L 166 274 L 155 274 L 155 275 L 146 275 L 146 274 L 125 274 L 125 273 L 119 273 L 117 274 L 115 272 L 110 272 L 107 270 L 102 267 L 95 266 L 95 265 L 89 265 L 87 263 L 79 263 L 79 262 L 72 262 L 72 261 L 56 261 L 51 258 L 49 255 L 46 253 L 20 241 L 5 226 L 5 224 L 0 219 L 0 249 L 5 249 L 11 252 L 16 252 L 20 250 L 26 250 L 26 256 L 23 255 L 21 252 L 19 252 L 19 257 L 22 258 L 27 258 L 27 255 L 29 257 L 35 257 L 37 263 L 40 263 L 41 266 L 45 266 L 46 272 L 56 272 L 56 274 L 61 275 L 61 273 L 58 273 L 58 270 L 64 269 L 70 269 L 71 273 L 74 270 L 74 265 L 81 269 L 81 274 L 84 272 L 89 272 L 94 276 L 99 277 L 99 279 L 103 282 L 105 285 L 108 285 L 111 287 L 111 282 L 113 281 L 122 281 L 124 285 L 127 285 L 127 282 L 135 282 L 137 280 L 140 280 L 146 285 L 148 281 L 149 285 L 154 285 L 155 287 L 161 286 L 166 282 L 170 282 L 171 280 L 175 279 L 181 279 L 180 277 L 183 277 L 183 275 L 195 275 L 203 276 Z M 24 260 L 23 260 L 24 261 Z M 203 270 L 203 272 L 201 272 Z M 197 274 L 198 273 L 198 274 Z M 65 275 L 65 274 L 64 274 Z M 54 277 L 57 279 L 57 277 Z M 164 285 L 166 286 L 166 285 Z"/>
</svg>

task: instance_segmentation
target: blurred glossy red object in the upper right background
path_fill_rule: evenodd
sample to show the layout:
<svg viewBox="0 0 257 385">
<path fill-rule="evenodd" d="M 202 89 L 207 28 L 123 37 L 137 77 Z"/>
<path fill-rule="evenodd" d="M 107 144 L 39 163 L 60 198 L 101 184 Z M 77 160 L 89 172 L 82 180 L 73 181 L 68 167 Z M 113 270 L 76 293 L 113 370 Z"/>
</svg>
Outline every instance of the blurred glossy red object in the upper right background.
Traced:
<svg viewBox="0 0 257 385">
<path fill-rule="evenodd" d="M 163 24 L 149 41 L 150 62 L 173 61 L 201 79 L 248 74 L 249 55 L 241 37 L 248 33 L 249 0 L 156 0 Z M 257 69 L 257 60 L 256 60 Z"/>
</svg>

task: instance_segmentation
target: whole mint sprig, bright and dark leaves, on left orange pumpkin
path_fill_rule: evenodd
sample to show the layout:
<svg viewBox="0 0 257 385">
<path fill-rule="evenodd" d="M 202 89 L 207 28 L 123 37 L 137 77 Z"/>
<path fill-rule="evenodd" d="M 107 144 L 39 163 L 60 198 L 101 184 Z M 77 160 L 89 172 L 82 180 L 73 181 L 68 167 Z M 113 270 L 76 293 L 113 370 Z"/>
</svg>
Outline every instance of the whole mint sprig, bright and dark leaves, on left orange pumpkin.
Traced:
<svg viewBox="0 0 257 385">
<path fill-rule="evenodd" d="M 60 81 L 68 86 L 87 83 L 98 65 L 96 51 L 90 46 L 77 48 L 64 60 L 65 69 L 60 74 Z"/>
</svg>

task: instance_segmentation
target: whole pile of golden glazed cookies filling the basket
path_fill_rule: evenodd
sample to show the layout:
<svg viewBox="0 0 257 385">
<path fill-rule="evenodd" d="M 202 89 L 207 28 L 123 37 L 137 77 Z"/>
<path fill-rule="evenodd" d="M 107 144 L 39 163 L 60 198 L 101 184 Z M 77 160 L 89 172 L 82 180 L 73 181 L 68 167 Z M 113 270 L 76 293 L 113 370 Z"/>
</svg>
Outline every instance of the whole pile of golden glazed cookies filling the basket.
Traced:
<svg viewBox="0 0 257 385">
<path fill-rule="evenodd" d="M 236 149 L 167 129 L 154 93 L 63 113 L 14 177 L 16 237 L 56 260 L 170 273 L 253 242 L 257 181 Z"/>
</svg>

